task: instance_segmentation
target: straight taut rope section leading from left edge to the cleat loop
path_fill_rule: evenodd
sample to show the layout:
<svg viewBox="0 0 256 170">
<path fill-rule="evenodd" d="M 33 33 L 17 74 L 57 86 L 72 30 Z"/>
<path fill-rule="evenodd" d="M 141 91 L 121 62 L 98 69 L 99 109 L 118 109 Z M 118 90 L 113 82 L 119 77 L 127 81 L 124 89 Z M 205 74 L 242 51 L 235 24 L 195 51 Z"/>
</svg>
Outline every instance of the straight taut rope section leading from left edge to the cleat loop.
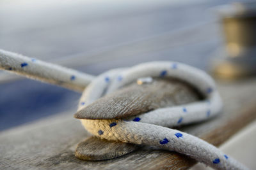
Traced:
<svg viewBox="0 0 256 170">
<path fill-rule="evenodd" d="M 38 59 L 0 49 L 0 69 L 28 78 L 46 81 L 72 90 L 83 91 L 94 76 Z"/>
</svg>

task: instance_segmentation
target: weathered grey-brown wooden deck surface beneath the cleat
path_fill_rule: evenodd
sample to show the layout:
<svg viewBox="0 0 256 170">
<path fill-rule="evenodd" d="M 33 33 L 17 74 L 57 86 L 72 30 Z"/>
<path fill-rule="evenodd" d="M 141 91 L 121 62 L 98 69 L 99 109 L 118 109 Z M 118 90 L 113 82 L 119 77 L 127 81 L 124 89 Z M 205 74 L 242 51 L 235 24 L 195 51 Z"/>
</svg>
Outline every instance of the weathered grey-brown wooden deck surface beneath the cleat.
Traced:
<svg viewBox="0 0 256 170">
<path fill-rule="evenodd" d="M 218 83 L 223 114 L 179 128 L 218 146 L 256 118 L 256 79 Z M 0 169 L 187 169 L 195 160 L 175 152 L 143 146 L 118 159 L 76 159 L 77 143 L 90 136 L 74 111 L 0 133 Z"/>
</svg>

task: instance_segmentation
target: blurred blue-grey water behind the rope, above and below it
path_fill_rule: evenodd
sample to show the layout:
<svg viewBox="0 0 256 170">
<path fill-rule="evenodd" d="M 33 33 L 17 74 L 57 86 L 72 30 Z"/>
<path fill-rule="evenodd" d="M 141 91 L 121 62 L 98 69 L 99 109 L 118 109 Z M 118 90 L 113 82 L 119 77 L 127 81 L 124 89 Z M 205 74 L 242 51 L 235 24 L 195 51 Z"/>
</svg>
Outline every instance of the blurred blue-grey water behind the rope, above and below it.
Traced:
<svg viewBox="0 0 256 170">
<path fill-rule="evenodd" d="M 0 48 L 97 75 L 174 60 L 205 71 L 223 46 L 214 8 L 232 1 L 0 1 Z M 70 110 L 81 94 L 0 71 L 0 131 Z"/>
</svg>

